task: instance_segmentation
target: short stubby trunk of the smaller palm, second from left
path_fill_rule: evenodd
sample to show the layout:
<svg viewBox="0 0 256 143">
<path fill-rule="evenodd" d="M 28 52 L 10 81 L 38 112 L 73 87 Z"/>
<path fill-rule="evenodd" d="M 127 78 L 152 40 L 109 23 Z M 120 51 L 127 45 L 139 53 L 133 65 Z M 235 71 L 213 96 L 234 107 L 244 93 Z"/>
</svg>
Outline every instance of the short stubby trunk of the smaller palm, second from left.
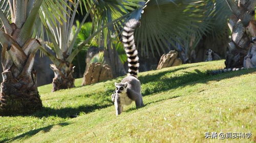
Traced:
<svg viewBox="0 0 256 143">
<path fill-rule="evenodd" d="M 61 89 L 69 89 L 75 87 L 75 78 L 73 77 L 74 66 L 73 64 L 59 60 L 60 64 L 51 64 L 51 68 L 54 71 L 53 89 L 52 92 Z"/>
</svg>

